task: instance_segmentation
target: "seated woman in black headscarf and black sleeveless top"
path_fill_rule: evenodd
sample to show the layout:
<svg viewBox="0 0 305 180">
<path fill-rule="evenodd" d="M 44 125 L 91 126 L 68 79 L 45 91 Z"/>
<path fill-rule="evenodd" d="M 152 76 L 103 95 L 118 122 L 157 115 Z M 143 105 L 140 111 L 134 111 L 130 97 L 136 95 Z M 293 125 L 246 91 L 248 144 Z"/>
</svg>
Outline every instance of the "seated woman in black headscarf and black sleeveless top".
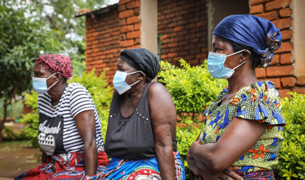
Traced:
<svg viewBox="0 0 305 180">
<path fill-rule="evenodd" d="M 185 179 L 172 97 L 151 82 L 159 69 L 147 49 L 121 51 L 105 141 L 112 160 L 98 179 Z"/>
</svg>

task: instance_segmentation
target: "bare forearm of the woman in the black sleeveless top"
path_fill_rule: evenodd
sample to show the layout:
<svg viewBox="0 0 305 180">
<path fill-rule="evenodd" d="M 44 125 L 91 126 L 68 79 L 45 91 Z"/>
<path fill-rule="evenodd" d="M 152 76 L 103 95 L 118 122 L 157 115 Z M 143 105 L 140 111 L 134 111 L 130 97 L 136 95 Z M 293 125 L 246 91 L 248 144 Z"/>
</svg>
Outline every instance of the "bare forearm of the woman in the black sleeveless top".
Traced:
<svg viewBox="0 0 305 180">
<path fill-rule="evenodd" d="M 175 179 L 175 160 L 173 146 L 156 145 L 156 156 L 162 179 Z"/>
</svg>

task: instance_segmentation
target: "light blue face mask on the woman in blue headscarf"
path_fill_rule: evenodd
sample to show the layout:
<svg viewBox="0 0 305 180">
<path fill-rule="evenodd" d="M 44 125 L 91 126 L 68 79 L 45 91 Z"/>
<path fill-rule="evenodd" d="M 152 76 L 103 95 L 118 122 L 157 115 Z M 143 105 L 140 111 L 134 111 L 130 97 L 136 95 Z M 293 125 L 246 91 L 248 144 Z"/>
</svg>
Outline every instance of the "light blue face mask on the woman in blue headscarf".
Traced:
<svg viewBox="0 0 305 180">
<path fill-rule="evenodd" d="M 214 78 L 220 78 L 220 79 L 230 78 L 232 76 L 232 74 L 234 73 L 234 69 L 236 69 L 238 66 L 242 65 L 243 63 L 245 63 L 247 61 L 241 63 L 238 66 L 236 66 L 234 69 L 230 69 L 230 68 L 225 68 L 224 67 L 224 62 L 226 60 L 226 57 L 231 56 L 231 55 L 235 55 L 235 54 L 240 53 L 240 52 L 245 51 L 245 50 L 246 49 L 235 52 L 235 53 L 230 54 L 230 55 L 209 52 L 207 65 L 208 65 L 208 69 L 209 69 L 210 74 Z"/>
</svg>

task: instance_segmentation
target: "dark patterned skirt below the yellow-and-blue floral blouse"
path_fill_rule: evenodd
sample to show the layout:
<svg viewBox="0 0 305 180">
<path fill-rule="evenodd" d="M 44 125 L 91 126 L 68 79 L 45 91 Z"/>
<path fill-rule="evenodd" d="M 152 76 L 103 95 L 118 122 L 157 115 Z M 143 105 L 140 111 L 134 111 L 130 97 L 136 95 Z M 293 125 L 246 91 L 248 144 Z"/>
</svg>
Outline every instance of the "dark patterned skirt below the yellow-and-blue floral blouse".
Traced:
<svg viewBox="0 0 305 180">
<path fill-rule="evenodd" d="M 275 180 L 273 170 L 256 171 L 251 173 L 235 171 L 235 173 L 245 180 Z M 196 180 L 204 180 L 204 178 L 199 176 Z"/>
</svg>

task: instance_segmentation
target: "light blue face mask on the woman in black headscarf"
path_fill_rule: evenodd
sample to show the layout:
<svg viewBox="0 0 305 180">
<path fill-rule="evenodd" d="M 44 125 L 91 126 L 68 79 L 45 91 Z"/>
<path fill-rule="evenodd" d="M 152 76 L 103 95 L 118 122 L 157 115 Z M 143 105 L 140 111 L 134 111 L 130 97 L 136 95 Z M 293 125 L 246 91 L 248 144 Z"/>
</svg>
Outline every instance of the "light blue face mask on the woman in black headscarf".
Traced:
<svg viewBox="0 0 305 180">
<path fill-rule="evenodd" d="M 136 71 L 136 72 L 141 72 L 141 71 Z M 129 74 L 133 74 L 133 73 L 136 73 L 136 72 L 131 72 Z M 129 90 L 131 88 L 132 85 L 134 85 L 134 84 L 138 83 L 139 81 L 141 81 L 141 80 L 138 80 L 137 82 L 135 82 L 135 83 L 133 83 L 131 85 L 128 85 L 125 82 L 125 79 L 126 79 L 126 76 L 129 75 L 129 74 L 127 74 L 127 72 L 122 72 L 122 71 L 117 71 L 114 74 L 112 83 L 113 83 L 114 89 L 117 90 L 117 92 L 119 94 L 125 93 L 127 90 Z"/>
</svg>

